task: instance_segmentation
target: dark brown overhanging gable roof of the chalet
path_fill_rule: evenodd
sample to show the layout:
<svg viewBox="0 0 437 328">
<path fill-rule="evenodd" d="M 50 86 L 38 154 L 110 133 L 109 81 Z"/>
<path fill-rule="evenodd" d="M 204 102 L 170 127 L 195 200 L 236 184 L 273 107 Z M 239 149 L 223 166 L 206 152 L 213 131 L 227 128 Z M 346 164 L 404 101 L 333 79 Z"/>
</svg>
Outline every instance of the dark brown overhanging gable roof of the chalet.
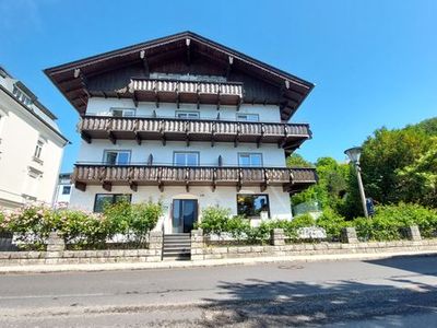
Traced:
<svg viewBox="0 0 437 328">
<path fill-rule="evenodd" d="M 86 110 L 87 98 L 91 96 L 86 90 L 87 77 L 107 72 L 115 68 L 139 63 L 143 60 L 153 60 L 154 58 L 165 60 L 165 54 L 184 49 L 199 51 L 203 56 L 209 56 L 223 65 L 228 65 L 232 61 L 233 67 L 238 66 L 240 70 L 248 71 L 252 75 L 276 86 L 282 96 L 280 104 L 282 119 L 290 119 L 314 87 L 310 82 L 192 32 L 182 32 L 75 60 L 48 68 L 44 72 L 73 107 L 83 115 Z"/>
</svg>

